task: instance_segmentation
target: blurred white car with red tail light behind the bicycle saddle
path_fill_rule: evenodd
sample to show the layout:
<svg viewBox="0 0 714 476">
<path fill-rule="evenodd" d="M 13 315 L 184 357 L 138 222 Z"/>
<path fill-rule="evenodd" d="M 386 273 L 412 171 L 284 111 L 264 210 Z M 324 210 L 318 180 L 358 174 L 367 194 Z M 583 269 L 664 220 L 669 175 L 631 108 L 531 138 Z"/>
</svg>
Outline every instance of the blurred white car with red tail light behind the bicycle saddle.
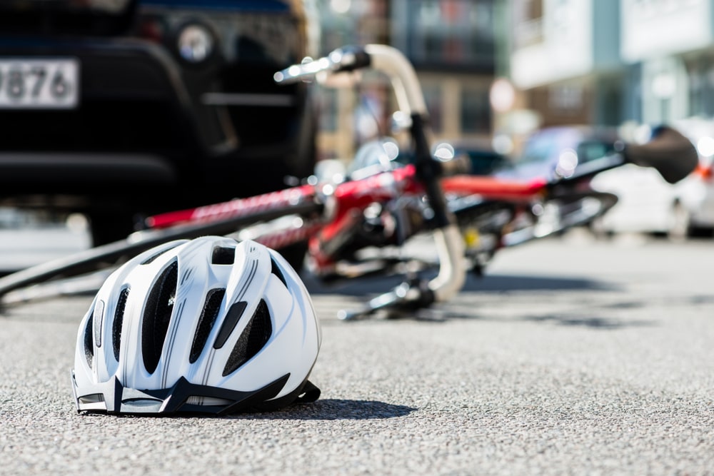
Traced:
<svg viewBox="0 0 714 476">
<path fill-rule="evenodd" d="M 590 185 L 615 193 L 618 203 L 596 223 L 604 233 L 658 233 L 670 238 L 714 231 L 714 124 L 678 125 L 699 152 L 698 168 L 671 185 L 652 168 L 626 165 L 598 174 Z"/>
</svg>

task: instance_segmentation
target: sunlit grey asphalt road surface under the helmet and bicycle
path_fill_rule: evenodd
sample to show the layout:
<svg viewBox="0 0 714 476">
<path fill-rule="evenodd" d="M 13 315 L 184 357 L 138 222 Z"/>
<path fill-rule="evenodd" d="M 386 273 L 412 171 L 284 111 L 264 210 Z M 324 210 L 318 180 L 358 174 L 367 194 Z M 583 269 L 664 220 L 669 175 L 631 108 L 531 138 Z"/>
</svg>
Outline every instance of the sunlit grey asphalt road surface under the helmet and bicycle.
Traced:
<svg viewBox="0 0 714 476">
<path fill-rule="evenodd" d="M 0 474 L 714 474 L 714 242 L 570 234 L 451 303 L 336 320 L 391 284 L 309 283 L 321 400 L 232 417 L 77 415 L 90 298 L 0 315 Z"/>
</svg>

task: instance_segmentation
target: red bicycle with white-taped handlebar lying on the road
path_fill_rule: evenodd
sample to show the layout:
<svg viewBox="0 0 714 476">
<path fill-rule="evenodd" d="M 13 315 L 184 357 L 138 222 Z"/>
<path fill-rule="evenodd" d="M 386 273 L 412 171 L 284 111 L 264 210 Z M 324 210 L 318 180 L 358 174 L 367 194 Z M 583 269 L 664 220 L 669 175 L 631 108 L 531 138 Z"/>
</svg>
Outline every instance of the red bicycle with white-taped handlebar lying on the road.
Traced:
<svg viewBox="0 0 714 476">
<path fill-rule="evenodd" d="M 226 235 L 238 230 L 251 231 L 255 233 L 251 238 L 278 250 L 307 241 L 309 258 L 319 277 L 356 278 L 403 268 L 401 258 L 355 260 L 357 251 L 369 246 L 401 246 L 416 234 L 428 231 L 436 244 L 436 277 L 407 280 L 361 309 L 344 311 L 341 318 L 371 315 L 387 308 L 419 308 L 445 302 L 461 290 L 468 270 L 465 256 L 478 262 L 483 259 L 481 255 L 491 255 L 503 246 L 585 223 L 616 201 L 607 193 L 573 191 L 576 179 L 633 162 L 653 166 L 668 180 L 678 181 L 695 165 L 692 144 L 672 131 L 669 141 L 655 138 L 644 146 L 623 147 L 619 153 L 590 162 L 587 169 L 557 181 L 520 182 L 459 175 L 463 172 L 460 161 L 437 160 L 430 151 L 428 113 L 421 86 L 411 64 L 398 50 L 384 45 L 338 49 L 322 59 L 279 71 L 275 79 L 278 83 L 328 83 L 334 77 L 349 76 L 365 68 L 381 71 L 390 79 L 398 109 L 409 118 L 413 163 L 376 170 L 351 181 L 306 183 L 261 196 L 151 216 L 146 220 L 146 230 L 126 240 L 0 278 L 0 297 L 5 296 L 8 303 L 56 295 L 63 289 L 76 290 L 65 278 L 112 265 L 168 240 Z M 685 160 L 666 160 L 668 155 Z M 445 192 L 453 198 L 447 200 Z M 585 206 L 588 201 L 595 206 Z M 542 226 L 543 213 L 538 209 L 549 205 L 555 206 L 557 219 L 550 221 L 546 230 Z M 524 214 L 531 219 L 519 221 Z M 466 228 L 493 235 L 493 243 L 467 252 L 463 238 Z M 477 263 L 476 268 L 480 265 Z M 27 288 L 44 282 L 48 283 L 45 290 L 34 293 Z M 24 293 L 19 292 L 22 288 Z M 11 291 L 16 291 L 14 301 L 7 299 Z"/>
</svg>

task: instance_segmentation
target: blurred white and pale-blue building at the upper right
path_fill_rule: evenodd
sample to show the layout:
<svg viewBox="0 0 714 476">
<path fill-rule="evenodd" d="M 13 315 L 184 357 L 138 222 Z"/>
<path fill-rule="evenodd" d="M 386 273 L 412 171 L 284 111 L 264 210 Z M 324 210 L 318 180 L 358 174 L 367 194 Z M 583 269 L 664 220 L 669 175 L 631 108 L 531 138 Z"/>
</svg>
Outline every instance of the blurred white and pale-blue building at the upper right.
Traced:
<svg viewBox="0 0 714 476">
<path fill-rule="evenodd" d="M 542 126 L 714 118 L 711 0 L 507 0 L 509 76 Z"/>
</svg>

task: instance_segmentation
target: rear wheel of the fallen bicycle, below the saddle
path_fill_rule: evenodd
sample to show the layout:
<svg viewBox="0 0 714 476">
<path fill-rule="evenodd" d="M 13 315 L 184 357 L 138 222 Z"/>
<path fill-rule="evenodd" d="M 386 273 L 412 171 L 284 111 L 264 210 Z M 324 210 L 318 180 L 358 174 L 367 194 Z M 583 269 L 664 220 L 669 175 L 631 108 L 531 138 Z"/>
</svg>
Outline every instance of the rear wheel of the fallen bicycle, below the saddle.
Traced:
<svg viewBox="0 0 714 476">
<path fill-rule="evenodd" d="M 575 226 L 585 226 L 610 210 L 618 197 L 613 193 L 586 191 L 546 198 L 531 206 L 531 219 L 505 233 L 503 246 L 515 246 L 553 236 Z"/>
</svg>

